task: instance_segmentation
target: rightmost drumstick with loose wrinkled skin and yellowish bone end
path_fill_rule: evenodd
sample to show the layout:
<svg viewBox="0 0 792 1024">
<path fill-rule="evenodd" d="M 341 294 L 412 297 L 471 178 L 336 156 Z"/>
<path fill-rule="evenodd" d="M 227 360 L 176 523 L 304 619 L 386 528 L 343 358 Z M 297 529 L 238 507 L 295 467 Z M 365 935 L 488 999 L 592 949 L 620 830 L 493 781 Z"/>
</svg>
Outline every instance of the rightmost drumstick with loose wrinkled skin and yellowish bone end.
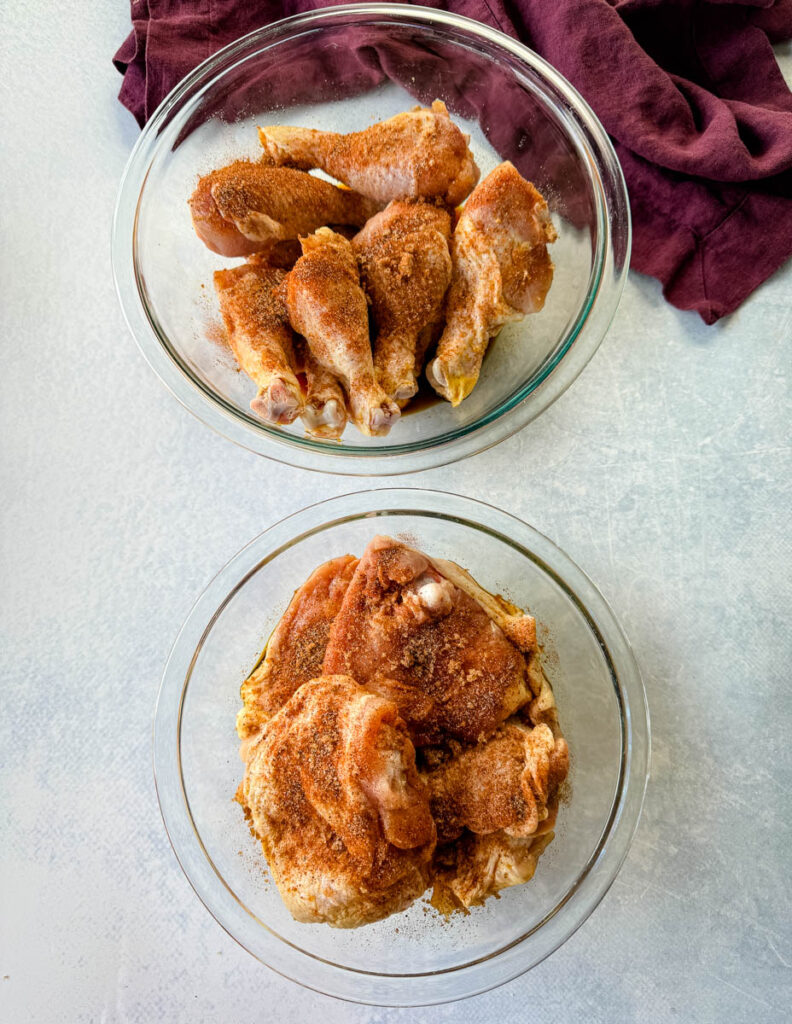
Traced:
<svg viewBox="0 0 792 1024">
<path fill-rule="evenodd" d="M 508 162 L 468 199 L 451 242 L 446 328 L 426 371 L 452 404 L 475 386 L 490 339 L 544 305 L 553 276 L 547 245 L 555 238 L 544 199 Z"/>
</svg>

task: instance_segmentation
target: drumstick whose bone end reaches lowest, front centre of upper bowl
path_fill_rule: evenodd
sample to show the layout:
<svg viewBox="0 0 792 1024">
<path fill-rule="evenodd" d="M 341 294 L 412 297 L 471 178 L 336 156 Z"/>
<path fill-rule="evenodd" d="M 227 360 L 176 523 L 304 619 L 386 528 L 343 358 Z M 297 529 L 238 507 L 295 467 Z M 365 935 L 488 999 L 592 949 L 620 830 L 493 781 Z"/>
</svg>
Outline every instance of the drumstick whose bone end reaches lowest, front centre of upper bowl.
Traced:
<svg viewBox="0 0 792 1024">
<path fill-rule="evenodd" d="M 302 256 L 286 283 L 289 317 L 311 354 L 335 374 L 364 434 L 386 434 L 400 412 L 377 383 L 369 311 L 351 243 L 329 227 L 300 240 Z"/>
</svg>

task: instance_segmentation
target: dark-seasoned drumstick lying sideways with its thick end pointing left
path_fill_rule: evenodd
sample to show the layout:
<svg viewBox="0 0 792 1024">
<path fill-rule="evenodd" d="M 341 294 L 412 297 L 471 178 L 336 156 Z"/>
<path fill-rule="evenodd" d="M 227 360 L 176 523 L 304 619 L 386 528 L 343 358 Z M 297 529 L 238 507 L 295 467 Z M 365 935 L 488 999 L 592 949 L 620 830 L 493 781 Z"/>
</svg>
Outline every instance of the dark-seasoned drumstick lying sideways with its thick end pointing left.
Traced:
<svg viewBox="0 0 792 1024">
<path fill-rule="evenodd" d="M 238 160 L 199 180 L 190 209 L 212 252 L 248 256 L 323 224 L 360 226 L 380 207 L 303 171 Z"/>
</svg>

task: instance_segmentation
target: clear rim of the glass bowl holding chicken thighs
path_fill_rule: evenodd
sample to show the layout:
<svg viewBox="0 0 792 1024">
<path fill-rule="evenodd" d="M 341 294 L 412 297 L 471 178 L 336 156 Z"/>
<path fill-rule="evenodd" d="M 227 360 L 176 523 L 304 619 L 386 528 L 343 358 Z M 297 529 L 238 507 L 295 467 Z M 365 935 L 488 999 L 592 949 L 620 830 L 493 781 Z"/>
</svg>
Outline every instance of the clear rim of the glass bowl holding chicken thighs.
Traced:
<svg viewBox="0 0 792 1024">
<path fill-rule="evenodd" d="M 447 519 L 484 530 L 535 562 L 572 598 L 610 666 L 621 723 L 620 778 L 598 843 L 556 905 L 525 935 L 484 957 L 436 971 L 362 971 L 300 949 L 257 918 L 215 867 L 193 820 L 181 770 L 184 699 L 201 648 L 227 602 L 264 564 L 307 536 L 387 514 Z M 627 855 L 641 813 L 651 724 L 640 672 L 627 638 L 591 580 L 552 541 L 496 506 L 447 492 L 391 487 L 352 492 L 306 506 L 263 530 L 214 575 L 187 614 L 168 655 L 154 716 L 153 767 L 160 811 L 176 859 L 196 895 L 227 934 L 266 967 L 303 987 L 353 1002 L 426 1006 L 478 994 L 550 955 L 599 904 Z M 218 885 L 219 882 L 219 885 Z M 240 934 L 252 918 L 256 943 Z M 549 929 L 549 930 L 547 930 Z M 544 937 L 542 937 L 544 932 Z M 266 934 L 264 934 L 266 933 Z M 261 950 L 263 946 L 263 952 Z M 372 986 L 363 991 L 364 983 Z"/>
</svg>

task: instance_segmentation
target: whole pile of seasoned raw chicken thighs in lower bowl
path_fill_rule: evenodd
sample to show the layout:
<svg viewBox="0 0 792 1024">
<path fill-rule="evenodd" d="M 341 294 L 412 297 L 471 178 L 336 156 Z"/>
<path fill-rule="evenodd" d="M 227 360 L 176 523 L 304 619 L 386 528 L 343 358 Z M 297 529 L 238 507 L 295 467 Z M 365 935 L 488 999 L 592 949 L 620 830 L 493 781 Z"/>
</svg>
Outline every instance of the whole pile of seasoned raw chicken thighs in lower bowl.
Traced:
<svg viewBox="0 0 792 1024">
<path fill-rule="evenodd" d="M 297 921 L 353 928 L 427 887 L 467 910 L 553 839 L 569 751 L 536 623 L 454 562 L 379 537 L 319 566 L 242 697 L 237 799 Z"/>
</svg>

